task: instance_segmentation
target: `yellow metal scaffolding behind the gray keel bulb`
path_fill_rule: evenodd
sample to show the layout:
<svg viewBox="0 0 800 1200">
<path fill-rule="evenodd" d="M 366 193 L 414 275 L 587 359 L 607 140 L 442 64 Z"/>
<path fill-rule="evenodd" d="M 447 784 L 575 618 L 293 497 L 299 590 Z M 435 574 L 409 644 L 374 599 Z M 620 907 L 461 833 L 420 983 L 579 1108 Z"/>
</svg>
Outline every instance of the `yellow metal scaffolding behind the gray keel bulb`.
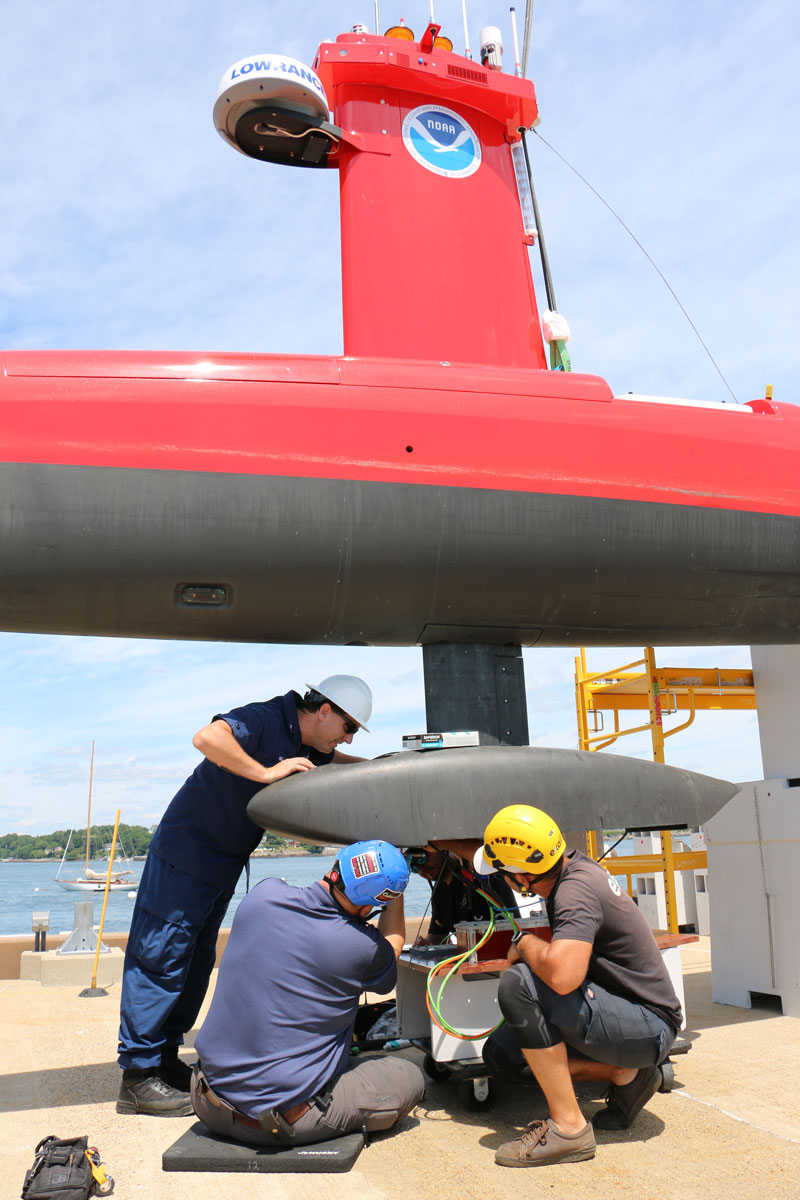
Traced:
<svg viewBox="0 0 800 1200">
<path fill-rule="evenodd" d="M 575 660 L 575 691 L 581 750 L 603 750 L 618 738 L 649 731 L 656 762 L 664 762 L 664 740 L 688 728 L 696 713 L 756 708 L 752 671 L 660 667 L 651 646 L 645 646 L 642 659 L 594 673 L 587 670 L 585 647 L 581 647 L 581 654 Z M 649 721 L 620 727 L 620 712 L 636 709 L 648 709 Z M 614 714 L 613 731 L 604 728 L 606 712 Z M 687 712 L 688 719 L 666 730 L 664 715 L 678 712 Z M 587 853 L 595 859 L 599 857 L 595 830 L 587 834 Z M 672 845 L 672 832 L 662 829 L 660 854 L 626 854 L 614 859 L 614 872 L 626 876 L 628 895 L 633 892 L 633 875 L 663 874 L 667 929 L 668 932 L 676 934 L 675 871 L 704 870 L 706 865 L 705 851 L 676 854 Z"/>
</svg>

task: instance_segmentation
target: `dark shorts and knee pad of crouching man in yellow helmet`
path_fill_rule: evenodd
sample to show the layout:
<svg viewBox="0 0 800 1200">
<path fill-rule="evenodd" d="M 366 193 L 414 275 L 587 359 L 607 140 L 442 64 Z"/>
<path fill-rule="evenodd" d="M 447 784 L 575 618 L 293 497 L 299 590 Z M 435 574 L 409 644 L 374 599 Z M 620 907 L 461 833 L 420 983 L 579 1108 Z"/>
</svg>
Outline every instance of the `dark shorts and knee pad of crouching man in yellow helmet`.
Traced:
<svg viewBox="0 0 800 1200">
<path fill-rule="evenodd" d="M 498 1002 L 506 1024 L 483 1046 L 483 1058 L 499 1075 L 518 1075 L 522 1050 L 565 1042 L 572 1057 L 614 1067 L 655 1067 L 663 1062 L 675 1031 L 649 1008 L 585 980 L 560 996 L 523 962 L 503 976 Z"/>
</svg>

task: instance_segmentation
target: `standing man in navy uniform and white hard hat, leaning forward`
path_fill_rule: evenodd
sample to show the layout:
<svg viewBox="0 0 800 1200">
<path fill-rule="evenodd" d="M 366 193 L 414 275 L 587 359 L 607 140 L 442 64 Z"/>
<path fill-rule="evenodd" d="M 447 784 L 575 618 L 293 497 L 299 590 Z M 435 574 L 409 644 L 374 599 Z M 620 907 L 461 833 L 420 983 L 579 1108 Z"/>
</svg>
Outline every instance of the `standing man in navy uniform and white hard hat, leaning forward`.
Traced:
<svg viewBox="0 0 800 1200">
<path fill-rule="evenodd" d="M 118 1112 L 191 1115 L 191 1069 L 178 1048 L 200 1010 L 236 881 L 261 840 L 247 804 L 287 775 L 362 761 L 338 746 L 366 730 L 371 712 L 362 679 L 330 676 L 302 698 L 289 691 L 217 714 L 194 736 L 204 758 L 154 834 L 131 920 Z"/>
</svg>

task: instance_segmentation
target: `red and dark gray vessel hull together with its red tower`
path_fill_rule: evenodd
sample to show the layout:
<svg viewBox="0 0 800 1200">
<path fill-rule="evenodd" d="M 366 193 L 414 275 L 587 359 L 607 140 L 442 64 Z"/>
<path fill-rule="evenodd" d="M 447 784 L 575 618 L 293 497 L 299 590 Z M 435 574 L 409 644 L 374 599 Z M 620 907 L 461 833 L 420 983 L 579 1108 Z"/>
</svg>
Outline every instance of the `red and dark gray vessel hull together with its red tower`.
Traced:
<svg viewBox="0 0 800 1200">
<path fill-rule="evenodd" d="M 0 628 L 800 640 L 800 409 L 547 370 L 512 152 L 533 85 L 427 34 L 315 67 L 344 355 L 6 353 Z"/>
</svg>

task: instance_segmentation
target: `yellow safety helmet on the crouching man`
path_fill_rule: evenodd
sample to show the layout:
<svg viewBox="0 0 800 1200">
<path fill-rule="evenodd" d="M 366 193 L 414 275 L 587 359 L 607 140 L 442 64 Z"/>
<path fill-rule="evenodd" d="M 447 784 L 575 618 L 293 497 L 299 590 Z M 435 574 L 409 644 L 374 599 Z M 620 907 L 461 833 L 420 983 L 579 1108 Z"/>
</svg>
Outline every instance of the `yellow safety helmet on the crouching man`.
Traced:
<svg viewBox="0 0 800 1200">
<path fill-rule="evenodd" d="M 486 827 L 483 842 L 475 854 L 479 875 L 500 869 L 543 875 L 566 850 L 553 817 L 529 804 L 510 804 L 495 812 Z"/>
</svg>

